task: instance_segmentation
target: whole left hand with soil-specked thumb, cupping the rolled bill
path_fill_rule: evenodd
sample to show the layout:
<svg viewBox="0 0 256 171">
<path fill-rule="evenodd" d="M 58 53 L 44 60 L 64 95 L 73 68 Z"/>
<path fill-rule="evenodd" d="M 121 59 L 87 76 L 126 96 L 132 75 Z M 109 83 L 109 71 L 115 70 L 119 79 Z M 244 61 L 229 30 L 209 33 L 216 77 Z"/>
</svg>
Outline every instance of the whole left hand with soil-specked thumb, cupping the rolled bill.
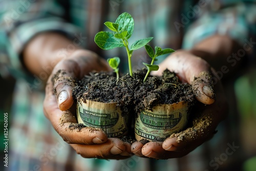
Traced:
<svg viewBox="0 0 256 171">
<path fill-rule="evenodd" d="M 95 53 L 76 50 L 57 63 L 46 86 L 44 113 L 56 132 L 84 158 L 123 159 L 131 145 L 118 138 L 107 138 L 103 131 L 79 127 L 75 117 L 72 88 L 74 79 L 95 70 L 109 70 L 108 63 Z"/>
</svg>

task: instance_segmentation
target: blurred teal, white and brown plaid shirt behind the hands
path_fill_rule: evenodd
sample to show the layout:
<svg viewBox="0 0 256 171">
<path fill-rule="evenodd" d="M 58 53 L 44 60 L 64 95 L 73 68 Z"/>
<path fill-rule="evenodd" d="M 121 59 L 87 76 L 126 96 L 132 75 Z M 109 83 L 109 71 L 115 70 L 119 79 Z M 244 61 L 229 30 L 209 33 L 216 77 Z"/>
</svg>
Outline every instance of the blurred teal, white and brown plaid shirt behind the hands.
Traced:
<svg viewBox="0 0 256 171">
<path fill-rule="evenodd" d="M 227 34 L 241 45 L 255 35 L 255 1 L 0 1 L 0 72 L 17 78 L 11 112 L 10 159 L 7 170 L 212 170 L 210 163 L 235 139 L 227 133 L 225 122 L 213 139 L 180 159 L 154 160 L 132 156 L 126 160 L 84 159 L 63 142 L 44 117 L 44 85 L 26 73 L 20 62 L 26 43 L 37 33 L 57 31 L 71 40 L 79 39 L 82 47 L 96 51 L 104 58 L 124 58 L 122 49 L 101 51 L 94 35 L 106 29 L 103 23 L 114 22 L 126 11 L 135 19 L 131 42 L 154 36 L 152 46 L 162 48 L 193 47 L 214 34 Z M 74 41 L 73 41 L 74 42 Z M 77 44 L 73 44 L 77 46 Z M 71 48 L 71 47 L 67 47 Z M 65 56 L 61 51 L 59 57 Z M 147 62 L 144 50 L 134 52 L 134 69 Z M 127 66 L 127 65 L 126 65 Z M 122 71 L 127 69 L 122 67 Z M 40 82 L 41 81 L 41 82 Z M 224 129 L 225 127 L 225 129 Z M 235 141 L 237 142 L 237 141 Z M 214 151 L 210 150 L 214 149 Z M 219 168 L 236 162 L 239 152 Z"/>
</svg>

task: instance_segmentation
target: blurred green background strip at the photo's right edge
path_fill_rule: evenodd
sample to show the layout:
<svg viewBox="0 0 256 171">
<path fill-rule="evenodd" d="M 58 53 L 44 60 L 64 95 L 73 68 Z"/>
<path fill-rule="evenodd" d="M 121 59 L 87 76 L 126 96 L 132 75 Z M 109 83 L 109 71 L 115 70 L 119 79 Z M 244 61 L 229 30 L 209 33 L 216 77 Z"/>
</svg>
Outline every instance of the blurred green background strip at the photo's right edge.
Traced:
<svg viewBox="0 0 256 171">
<path fill-rule="evenodd" d="M 256 170 L 256 69 L 249 70 L 234 84 L 240 114 L 239 136 L 244 154 L 248 159 L 244 163 L 245 171 Z"/>
</svg>

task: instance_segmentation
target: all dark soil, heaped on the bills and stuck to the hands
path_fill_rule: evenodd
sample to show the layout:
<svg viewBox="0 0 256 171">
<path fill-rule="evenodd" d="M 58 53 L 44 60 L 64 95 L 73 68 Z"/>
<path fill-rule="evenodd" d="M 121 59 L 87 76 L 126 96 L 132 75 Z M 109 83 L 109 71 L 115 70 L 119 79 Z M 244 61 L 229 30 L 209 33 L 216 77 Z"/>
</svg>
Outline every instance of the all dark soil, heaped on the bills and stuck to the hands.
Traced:
<svg viewBox="0 0 256 171">
<path fill-rule="evenodd" d="M 116 75 L 113 72 L 94 72 L 90 73 L 89 76 L 84 76 L 81 80 L 74 80 L 65 76 L 65 71 L 59 70 L 52 77 L 52 82 L 64 81 L 65 84 L 75 86 L 72 93 L 75 101 L 83 97 L 84 99 L 99 102 L 117 102 L 122 110 L 122 114 L 131 116 L 129 117 L 132 120 L 131 122 L 136 117 L 134 114 L 139 114 L 145 108 L 151 110 L 156 104 L 171 104 L 183 100 L 188 101 L 191 106 L 195 103 L 195 95 L 191 86 L 189 84 L 182 84 L 175 73 L 165 70 L 162 77 L 148 76 L 146 82 L 143 82 L 145 74 L 146 69 L 143 69 L 133 73 L 133 77 L 126 74 L 117 81 Z M 206 76 L 203 77 L 206 80 L 199 77 L 195 78 L 194 81 L 208 82 L 211 79 L 210 74 L 206 73 Z M 196 85 L 194 85 L 196 90 L 197 84 L 194 84 Z M 55 89 L 54 93 L 56 94 Z M 195 94 L 199 93 L 195 92 Z M 173 134 L 171 137 L 177 137 L 177 142 L 181 142 L 197 139 L 198 136 L 203 136 L 204 134 L 212 134 L 208 130 L 208 127 L 212 124 L 212 118 L 213 115 L 211 113 L 192 116 L 188 121 L 187 129 Z M 62 124 L 70 122 L 70 116 L 63 115 L 60 122 Z M 70 122 L 67 129 L 80 132 L 83 127 L 85 127 L 83 124 Z M 130 133 L 133 133 L 133 126 L 130 129 Z M 92 128 L 92 131 L 94 130 Z M 123 136 L 121 140 L 130 143 L 136 141 L 133 134 Z M 143 144 L 148 142 L 146 139 L 140 141 Z"/>
</svg>

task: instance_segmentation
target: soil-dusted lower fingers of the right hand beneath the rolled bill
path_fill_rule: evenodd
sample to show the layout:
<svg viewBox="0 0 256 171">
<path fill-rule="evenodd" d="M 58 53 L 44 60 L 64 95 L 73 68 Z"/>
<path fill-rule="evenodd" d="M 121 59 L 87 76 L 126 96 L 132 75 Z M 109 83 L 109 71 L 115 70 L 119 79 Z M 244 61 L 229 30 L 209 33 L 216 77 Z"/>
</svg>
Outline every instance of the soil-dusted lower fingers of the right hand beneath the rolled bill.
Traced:
<svg viewBox="0 0 256 171">
<path fill-rule="evenodd" d="M 193 120 L 193 124 L 188 129 L 173 134 L 164 142 L 148 142 L 145 145 L 135 142 L 132 144 L 132 152 L 140 157 L 155 159 L 185 156 L 215 134 L 217 122 L 214 121 L 212 111 L 208 114 L 201 113 L 197 115 Z"/>
</svg>

